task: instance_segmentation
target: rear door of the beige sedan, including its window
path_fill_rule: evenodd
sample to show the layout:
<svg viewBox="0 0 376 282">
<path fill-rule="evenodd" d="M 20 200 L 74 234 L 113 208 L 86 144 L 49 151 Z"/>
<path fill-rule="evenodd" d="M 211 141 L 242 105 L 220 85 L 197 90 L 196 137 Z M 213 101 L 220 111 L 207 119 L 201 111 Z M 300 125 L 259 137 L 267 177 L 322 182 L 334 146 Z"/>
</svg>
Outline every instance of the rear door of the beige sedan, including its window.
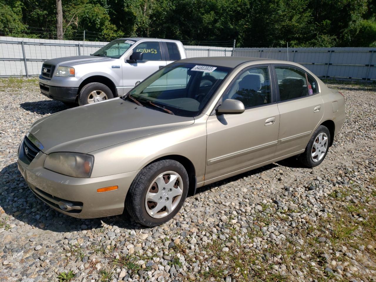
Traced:
<svg viewBox="0 0 376 282">
<path fill-rule="evenodd" d="M 276 158 L 305 149 L 312 131 L 323 117 L 324 103 L 312 91 L 304 70 L 274 64 L 280 125 Z"/>
</svg>

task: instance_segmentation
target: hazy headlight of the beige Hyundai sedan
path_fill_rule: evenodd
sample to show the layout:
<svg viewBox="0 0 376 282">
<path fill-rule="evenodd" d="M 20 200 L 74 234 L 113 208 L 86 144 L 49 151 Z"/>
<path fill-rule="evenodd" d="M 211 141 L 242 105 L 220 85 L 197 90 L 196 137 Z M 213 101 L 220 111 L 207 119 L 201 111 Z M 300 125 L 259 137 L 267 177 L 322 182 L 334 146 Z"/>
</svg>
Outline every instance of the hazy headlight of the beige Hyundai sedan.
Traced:
<svg viewBox="0 0 376 282">
<path fill-rule="evenodd" d="M 51 153 L 44 161 L 44 168 L 73 177 L 90 177 L 94 156 L 82 153 Z"/>
</svg>

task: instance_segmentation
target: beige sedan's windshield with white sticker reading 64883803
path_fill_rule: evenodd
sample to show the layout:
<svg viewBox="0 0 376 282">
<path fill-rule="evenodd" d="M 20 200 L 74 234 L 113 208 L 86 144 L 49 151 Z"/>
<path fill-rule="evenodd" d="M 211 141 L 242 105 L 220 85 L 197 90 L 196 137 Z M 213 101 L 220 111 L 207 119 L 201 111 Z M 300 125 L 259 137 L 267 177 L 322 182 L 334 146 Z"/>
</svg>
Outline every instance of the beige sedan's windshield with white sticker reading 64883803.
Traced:
<svg viewBox="0 0 376 282">
<path fill-rule="evenodd" d="M 200 64 L 170 64 L 129 92 L 144 106 L 196 117 L 213 97 L 231 68 Z M 154 105 L 152 105 L 154 104 Z M 162 107 L 158 108 L 155 105 Z"/>
</svg>

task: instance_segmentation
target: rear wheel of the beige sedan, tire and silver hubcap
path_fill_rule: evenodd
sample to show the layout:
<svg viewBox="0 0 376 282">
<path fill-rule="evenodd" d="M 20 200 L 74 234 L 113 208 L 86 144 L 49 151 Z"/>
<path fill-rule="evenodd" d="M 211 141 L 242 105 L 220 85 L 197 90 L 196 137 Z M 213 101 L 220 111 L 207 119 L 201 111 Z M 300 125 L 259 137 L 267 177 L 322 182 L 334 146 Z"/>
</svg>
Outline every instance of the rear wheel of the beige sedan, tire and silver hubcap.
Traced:
<svg viewBox="0 0 376 282">
<path fill-rule="evenodd" d="M 312 134 L 304 153 L 298 157 L 298 160 L 305 167 L 309 168 L 321 164 L 329 150 L 330 140 L 329 129 L 326 126 L 320 125 Z"/>
</svg>

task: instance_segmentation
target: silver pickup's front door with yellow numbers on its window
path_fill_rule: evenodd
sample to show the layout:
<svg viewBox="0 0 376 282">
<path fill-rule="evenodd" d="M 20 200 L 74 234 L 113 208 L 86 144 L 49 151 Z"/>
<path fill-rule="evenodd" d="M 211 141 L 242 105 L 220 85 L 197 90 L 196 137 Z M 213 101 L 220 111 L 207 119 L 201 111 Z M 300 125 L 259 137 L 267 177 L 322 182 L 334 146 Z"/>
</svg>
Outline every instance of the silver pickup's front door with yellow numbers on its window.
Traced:
<svg viewBox="0 0 376 282">
<path fill-rule="evenodd" d="M 123 62 L 124 93 L 132 89 L 136 82 L 141 82 L 150 74 L 155 73 L 166 65 L 165 54 L 162 52 L 161 42 L 146 41 L 137 44 L 133 52 L 144 53 L 143 59 L 136 63 Z"/>
</svg>

